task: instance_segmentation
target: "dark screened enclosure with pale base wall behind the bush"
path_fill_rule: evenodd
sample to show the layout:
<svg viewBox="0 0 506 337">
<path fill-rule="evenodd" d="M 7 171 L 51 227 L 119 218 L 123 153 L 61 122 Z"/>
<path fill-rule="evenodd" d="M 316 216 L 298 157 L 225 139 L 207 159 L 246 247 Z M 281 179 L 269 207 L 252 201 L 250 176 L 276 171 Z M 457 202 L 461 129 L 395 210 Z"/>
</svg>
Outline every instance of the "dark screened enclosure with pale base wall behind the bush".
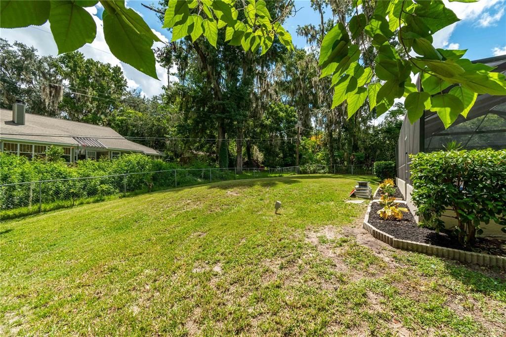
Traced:
<svg viewBox="0 0 506 337">
<path fill-rule="evenodd" d="M 493 71 L 506 73 L 506 55 L 474 62 L 495 67 Z M 420 90 L 419 79 L 416 85 Z M 404 116 L 396 149 L 397 186 L 412 212 L 416 207 L 411 202 L 413 188 L 410 180 L 410 154 L 444 150 L 452 141 L 459 143 L 462 149 L 506 149 L 506 96 L 479 95 L 467 118 L 458 116 L 448 129 L 444 128 L 443 122 L 434 112 L 425 111 L 413 124 Z M 418 221 L 418 217 L 415 216 L 415 219 Z M 452 220 L 448 219 L 445 218 L 445 222 L 451 227 L 448 222 Z"/>
</svg>

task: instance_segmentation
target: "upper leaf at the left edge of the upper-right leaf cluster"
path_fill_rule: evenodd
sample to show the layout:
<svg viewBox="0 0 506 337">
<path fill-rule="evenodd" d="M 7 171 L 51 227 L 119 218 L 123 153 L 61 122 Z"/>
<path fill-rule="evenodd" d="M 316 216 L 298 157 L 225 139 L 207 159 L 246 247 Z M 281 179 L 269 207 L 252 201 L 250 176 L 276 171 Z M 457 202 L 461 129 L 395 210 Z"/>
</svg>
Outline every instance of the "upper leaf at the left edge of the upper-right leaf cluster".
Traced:
<svg viewBox="0 0 506 337">
<path fill-rule="evenodd" d="M 348 54 L 348 33 L 339 22 L 325 34 L 320 47 L 319 65 L 324 68 L 331 62 L 339 62 Z"/>
</svg>

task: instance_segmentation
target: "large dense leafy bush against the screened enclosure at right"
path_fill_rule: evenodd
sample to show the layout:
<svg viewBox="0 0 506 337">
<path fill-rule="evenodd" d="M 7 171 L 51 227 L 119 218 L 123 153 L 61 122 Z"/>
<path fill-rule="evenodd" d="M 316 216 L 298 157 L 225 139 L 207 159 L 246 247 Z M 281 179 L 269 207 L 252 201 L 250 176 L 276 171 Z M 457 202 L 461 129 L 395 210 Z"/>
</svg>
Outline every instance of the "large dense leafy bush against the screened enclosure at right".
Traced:
<svg viewBox="0 0 506 337">
<path fill-rule="evenodd" d="M 482 222 L 506 226 L 505 150 L 418 153 L 412 156 L 411 181 L 412 199 L 425 224 L 440 230 L 441 215 L 453 210 L 462 245 L 473 244 L 483 232 Z"/>
</svg>

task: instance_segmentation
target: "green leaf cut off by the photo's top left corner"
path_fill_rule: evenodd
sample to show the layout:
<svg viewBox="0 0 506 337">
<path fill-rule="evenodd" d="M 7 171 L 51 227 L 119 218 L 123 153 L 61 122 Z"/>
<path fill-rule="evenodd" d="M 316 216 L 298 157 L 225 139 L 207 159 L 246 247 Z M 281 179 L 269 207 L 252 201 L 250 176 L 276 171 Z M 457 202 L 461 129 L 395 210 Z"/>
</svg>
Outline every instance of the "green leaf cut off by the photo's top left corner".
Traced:
<svg viewBox="0 0 506 337">
<path fill-rule="evenodd" d="M 0 27 L 40 26 L 49 19 L 49 1 L 0 1 Z"/>
</svg>

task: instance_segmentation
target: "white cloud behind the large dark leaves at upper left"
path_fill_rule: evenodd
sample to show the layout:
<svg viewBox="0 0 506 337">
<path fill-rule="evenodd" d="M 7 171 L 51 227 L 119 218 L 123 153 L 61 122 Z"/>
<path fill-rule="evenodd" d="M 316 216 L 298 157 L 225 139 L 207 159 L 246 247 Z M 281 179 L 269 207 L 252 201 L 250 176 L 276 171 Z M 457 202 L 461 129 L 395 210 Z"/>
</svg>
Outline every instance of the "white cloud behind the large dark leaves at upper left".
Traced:
<svg viewBox="0 0 506 337">
<path fill-rule="evenodd" d="M 100 3 L 99 3 L 100 4 Z M 97 7 L 85 8 L 90 14 L 92 14 L 95 23 L 97 24 L 97 36 L 93 43 L 86 44 L 79 49 L 86 58 L 92 58 L 96 61 L 103 63 L 110 63 L 113 66 L 119 66 L 126 77 L 127 87 L 129 89 L 139 89 L 141 94 L 151 97 L 159 95 L 163 92 L 162 86 L 167 85 L 168 74 L 165 68 L 158 63 L 156 64 L 156 73 L 159 80 L 156 80 L 132 66 L 119 61 L 109 50 L 109 46 L 105 42 L 104 29 L 102 20 L 97 16 Z M 164 43 L 168 40 L 160 32 L 151 29 Z M 33 46 L 38 50 L 38 53 L 43 56 L 58 55 L 58 49 L 56 43 L 51 34 L 49 22 L 46 22 L 42 26 L 30 26 L 26 28 L 16 29 L 0 29 L 0 37 L 7 39 L 10 43 L 19 41 L 27 46 Z M 153 48 L 162 47 L 162 42 L 156 42 L 153 44 Z M 170 76 L 171 81 L 177 81 L 177 77 Z"/>
</svg>

